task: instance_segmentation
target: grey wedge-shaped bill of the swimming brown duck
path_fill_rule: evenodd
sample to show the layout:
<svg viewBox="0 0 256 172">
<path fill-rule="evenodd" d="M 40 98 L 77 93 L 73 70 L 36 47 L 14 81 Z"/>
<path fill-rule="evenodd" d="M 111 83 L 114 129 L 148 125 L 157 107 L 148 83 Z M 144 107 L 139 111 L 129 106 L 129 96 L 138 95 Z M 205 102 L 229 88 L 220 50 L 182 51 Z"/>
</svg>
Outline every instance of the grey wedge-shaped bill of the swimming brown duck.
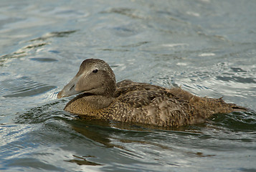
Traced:
<svg viewBox="0 0 256 172">
<path fill-rule="evenodd" d="M 68 97 L 70 95 L 76 95 L 80 93 L 79 91 L 75 90 L 75 85 L 79 77 L 74 77 L 57 95 L 58 98 Z"/>
</svg>

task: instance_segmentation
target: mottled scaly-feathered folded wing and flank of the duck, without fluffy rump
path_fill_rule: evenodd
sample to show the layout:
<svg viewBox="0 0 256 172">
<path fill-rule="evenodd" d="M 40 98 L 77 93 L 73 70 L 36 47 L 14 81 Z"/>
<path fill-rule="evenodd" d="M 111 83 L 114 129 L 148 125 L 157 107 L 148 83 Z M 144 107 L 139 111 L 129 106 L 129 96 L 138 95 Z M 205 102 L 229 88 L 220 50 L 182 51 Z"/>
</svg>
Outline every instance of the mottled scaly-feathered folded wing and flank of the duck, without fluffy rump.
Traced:
<svg viewBox="0 0 256 172">
<path fill-rule="evenodd" d="M 178 126 L 189 123 L 190 108 L 169 89 L 137 82 L 119 85 L 110 105 L 113 120 L 146 123 L 158 126 Z"/>
</svg>

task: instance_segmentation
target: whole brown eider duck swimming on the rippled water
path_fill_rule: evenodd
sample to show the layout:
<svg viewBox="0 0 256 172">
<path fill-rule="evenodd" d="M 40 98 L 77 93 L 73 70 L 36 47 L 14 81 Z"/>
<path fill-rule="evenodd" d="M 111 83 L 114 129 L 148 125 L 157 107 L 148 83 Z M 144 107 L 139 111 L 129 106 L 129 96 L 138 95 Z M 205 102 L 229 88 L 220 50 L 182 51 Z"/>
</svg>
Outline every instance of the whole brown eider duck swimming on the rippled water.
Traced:
<svg viewBox="0 0 256 172">
<path fill-rule="evenodd" d="M 115 82 L 115 74 L 101 59 L 85 59 L 77 75 L 57 97 L 77 95 L 66 111 L 101 120 L 118 120 L 162 127 L 203 123 L 214 113 L 231 113 L 245 108 L 222 98 L 198 97 L 182 90 L 131 80 Z"/>
</svg>

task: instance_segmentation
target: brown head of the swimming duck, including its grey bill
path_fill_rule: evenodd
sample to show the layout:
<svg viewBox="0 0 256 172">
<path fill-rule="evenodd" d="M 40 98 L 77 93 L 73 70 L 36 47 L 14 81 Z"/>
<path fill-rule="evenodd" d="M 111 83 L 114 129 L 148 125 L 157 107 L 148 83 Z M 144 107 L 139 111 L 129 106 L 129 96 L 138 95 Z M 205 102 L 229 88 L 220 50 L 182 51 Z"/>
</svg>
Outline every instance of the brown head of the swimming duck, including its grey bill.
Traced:
<svg viewBox="0 0 256 172">
<path fill-rule="evenodd" d="M 108 63 L 101 59 L 85 59 L 77 75 L 58 93 L 57 97 L 68 97 L 79 93 L 113 97 L 115 74 Z"/>
</svg>

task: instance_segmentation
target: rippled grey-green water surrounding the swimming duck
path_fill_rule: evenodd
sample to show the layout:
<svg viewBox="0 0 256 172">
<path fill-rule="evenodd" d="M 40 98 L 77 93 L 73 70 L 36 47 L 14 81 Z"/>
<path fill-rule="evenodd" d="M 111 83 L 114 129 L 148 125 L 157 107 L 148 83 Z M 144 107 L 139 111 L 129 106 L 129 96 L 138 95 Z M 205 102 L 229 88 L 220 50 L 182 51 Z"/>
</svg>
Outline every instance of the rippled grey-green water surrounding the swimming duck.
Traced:
<svg viewBox="0 0 256 172">
<path fill-rule="evenodd" d="M 255 1 L 0 1 L 0 171 L 256 171 Z M 85 121 L 57 92 L 83 59 L 118 81 L 250 108 L 151 128 Z"/>
</svg>

